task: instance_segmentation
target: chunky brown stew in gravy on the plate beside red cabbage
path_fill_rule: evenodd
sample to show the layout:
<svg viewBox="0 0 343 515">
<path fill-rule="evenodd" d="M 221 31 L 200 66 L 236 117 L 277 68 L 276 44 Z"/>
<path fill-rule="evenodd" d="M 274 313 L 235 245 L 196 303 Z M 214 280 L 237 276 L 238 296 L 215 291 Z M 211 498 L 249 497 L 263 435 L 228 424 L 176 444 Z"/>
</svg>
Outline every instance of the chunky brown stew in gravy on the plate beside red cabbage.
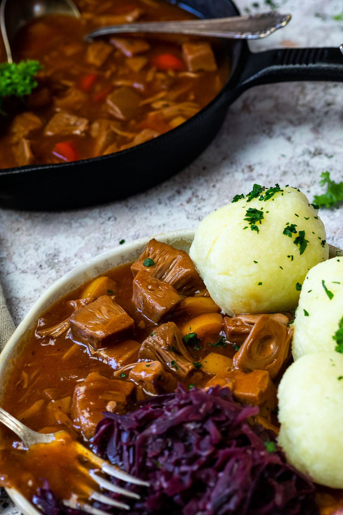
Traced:
<svg viewBox="0 0 343 515">
<path fill-rule="evenodd" d="M 58 500 L 73 499 L 75 493 L 82 499 L 89 488 L 94 488 L 82 468 L 86 466 L 86 457 L 81 461 L 77 458 L 73 442 L 79 439 L 87 445 L 97 431 L 94 449 L 99 451 L 99 439 L 103 439 L 104 431 L 101 424 L 106 430 L 112 424 L 108 417 L 134 410 L 140 413 L 137 420 L 146 427 L 141 417 L 145 413 L 149 420 L 152 415 L 141 401 L 161 398 L 165 409 L 170 404 L 174 406 L 169 419 L 172 420 L 173 413 L 178 417 L 183 411 L 186 393 L 176 394 L 174 400 L 166 397 L 177 389 L 177 384 L 184 392 L 200 388 L 192 402 L 200 399 L 207 409 L 211 403 L 219 403 L 215 408 L 220 409 L 219 415 L 213 415 L 213 420 L 205 424 L 213 437 L 216 435 L 213 421 L 225 420 L 226 410 L 229 414 L 233 410 L 235 417 L 241 417 L 241 424 L 243 420 L 238 404 L 225 400 L 225 396 L 215 397 L 219 394 L 218 388 L 229 388 L 233 400 L 243 406 L 256 406 L 247 408 L 245 417 L 249 417 L 249 425 L 258 427 L 251 438 L 257 448 L 262 445 L 263 459 L 267 462 L 267 454 L 276 451 L 276 385 L 290 358 L 293 333 L 290 321 L 291 315 L 287 313 L 225 316 L 209 297 L 189 255 L 152 239 L 135 263 L 113 269 L 49 308 L 38 320 L 34 334 L 23 342 L 23 350 L 4 387 L 2 406 L 36 431 L 63 430 L 64 433 L 60 440 L 49 444 L 49 452 L 44 445 L 27 452 L 21 450 L 21 443 L 11 432 L 2 428 L 2 484 L 15 486 L 49 514 L 68 512 L 65 507 L 59 508 Z M 209 393 L 208 401 L 202 397 L 204 391 Z M 192 409 L 197 413 L 198 408 Z M 104 411 L 107 418 L 102 419 Z M 125 427 L 134 431 L 134 425 L 129 424 L 133 419 L 122 420 Z M 233 432 L 237 439 L 233 448 L 240 438 L 237 427 L 236 433 Z M 191 438 L 195 438 L 196 427 L 193 429 Z M 136 429 L 138 435 L 141 431 L 142 428 Z M 175 431 L 177 436 L 181 428 Z M 240 431 L 248 431 L 247 426 L 242 425 Z M 115 438 L 115 434 L 112 433 L 111 438 Z M 125 435 L 128 436 L 126 430 L 122 438 L 127 438 Z M 267 442 L 261 440 L 262 437 L 267 438 Z M 169 433 L 168 438 L 173 439 L 175 435 Z M 214 439 L 218 440 L 216 436 Z M 131 440 L 131 444 L 134 441 Z M 206 439 L 203 445 L 205 442 Z M 125 445 L 119 444 L 120 452 L 125 452 Z M 152 452 L 157 452 L 153 440 L 151 445 Z M 257 448 L 254 456 L 260 459 L 261 448 L 259 451 Z M 313 486 L 311 490 L 303 476 L 296 479 L 296 471 L 282 462 L 280 456 L 275 453 L 270 458 L 274 469 L 264 473 L 267 474 L 265 484 L 269 482 L 268 474 L 271 473 L 273 480 L 273 474 L 277 477 L 280 470 L 283 483 L 278 488 L 288 491 L 287 477 L 291 473 L 292 496 L 299 496 L 301 502 L 310 502 Z M 281 459 L 284 460 L 282 456 Z M 56 466 L 51 467 L 51 464 Z M 238 477 L 236 473 L 233 476 Z M 48 480 L 43 488 L 42 478 Z M 249 483 L 244 475 L 241 479 Z M 297 488 L 299 493 L 296 493 Z M 281 490 L 278 491 L 280 494 Z M 333 507 L 341 503 L 340 497 L 328 493 L 321 494 L 319 499 L 324 500 L 322 514 L 331 513 Z M 268 504 L 267 497 L 264 502 Z M 288 511 L 288 508 L 282 513 L 300 512 Z M 140 509 L 138 512 L 146 513 Z"/>
</svg>

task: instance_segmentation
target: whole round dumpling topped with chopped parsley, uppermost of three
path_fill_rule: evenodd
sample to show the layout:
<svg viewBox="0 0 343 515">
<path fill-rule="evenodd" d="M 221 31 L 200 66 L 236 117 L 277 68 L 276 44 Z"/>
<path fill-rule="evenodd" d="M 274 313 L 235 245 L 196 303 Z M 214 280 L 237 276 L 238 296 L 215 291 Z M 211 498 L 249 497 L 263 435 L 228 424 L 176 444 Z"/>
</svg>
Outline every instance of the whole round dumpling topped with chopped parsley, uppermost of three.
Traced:
<svg viewBox="0 0 343 515">
<path fill-rule="evenodd" d="M 296 188 L 255 184 L 241 197 L 200 223 L 190 256 L 224 313 L 291 310 L 308 270 L 328 259 L 323 223 Z"/>
</svg>

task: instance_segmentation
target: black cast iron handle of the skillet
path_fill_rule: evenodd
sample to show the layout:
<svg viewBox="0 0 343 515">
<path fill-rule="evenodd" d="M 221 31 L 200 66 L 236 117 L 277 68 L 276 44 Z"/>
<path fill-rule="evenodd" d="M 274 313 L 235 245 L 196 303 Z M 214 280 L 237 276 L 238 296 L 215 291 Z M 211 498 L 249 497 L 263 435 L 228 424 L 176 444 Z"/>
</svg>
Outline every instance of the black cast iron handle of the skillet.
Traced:
<svg viewBox="0 0 343 515">
<path fill-rule="evenodd" d="M 241 94 L 259 84 L 299 80 L 343 81 L 339 48 L 279 48 L 249 53 L 237 88 Z"/>
</svg>

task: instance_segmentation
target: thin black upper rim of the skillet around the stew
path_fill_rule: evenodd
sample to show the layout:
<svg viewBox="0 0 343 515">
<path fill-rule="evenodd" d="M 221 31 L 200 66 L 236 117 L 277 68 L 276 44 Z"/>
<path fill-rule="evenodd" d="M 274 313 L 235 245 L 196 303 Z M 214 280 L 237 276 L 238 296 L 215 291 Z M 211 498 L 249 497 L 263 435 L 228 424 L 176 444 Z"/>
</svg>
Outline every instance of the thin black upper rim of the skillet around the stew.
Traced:
<svg viewBox="0 0 343 515">
<path fill-rule="evenodd" d="M 170 1 L 170 0 L 167 0 L 167 1 Z M 232 2 L 232 0 L 222 0 L 222 1 L 225 2 L 226 4 L 230 5 L 231 11 L 233 10 L 235 13 L 234 15 L 236 15 L 236 16 L 240 15 L 240 11 L 239 11 L 238 7 L 236 6 L 236 4 L 234 4 L 234 2 Z M 180 2 L 175 2 L 175 0 L 171 0 L 171 3 L 183 4 L 185 6 L 185 5 L 187 5 L 187 0 L 180 0 Z M 248 53 L 247 43 L 243 40 L 241 40 L 239 42 L 236 41 L 236 44 L 237 43 L 239 43 L 241 45 L 240 57 L 242 57 L 243 54 Z M 245 50 L 245 52 L 244 52 L 244 50 Z M 236 68 L 237 68 L 237 66 L 236 66 Z M 47 163 L 47 164 L 38 164 L 38 165 L 36 164 L 36 165 L 28 165 L 28 166 L 14 166 L 11 168 L 3 168 L 3 169 L 0 169 L 0 175 L 16 175 L 16 174 L 30 173 L 33 171 L 40 171 L 40 170 L 46 170 L 48 173 L 48 171 L 50 169 L 53 169 L 54 171 L 55 170 L 58 171 L 58 170 L 64 170 L 65 168 L 72 168 L 71 173 L 73 173 L 73 171 L 76 168 L 80 168 L 80 167 L 82 168 L 82 166 L 85 163 L 93 164 L 94 166 L 96 166 L 97 164 L 101 165 L 105 161 L 111 161 L 116 156 L 120 156 L 120 157 L 121 156 L 129 156 L 130 157 L 130 155 L 133 155 L 137 151 L 136 149 L 149 149 L 149 147 L 156 148 L 159 145 L 159 143 L 160 143 L 160 145 L 163 145 L 167 139 L 169 139 L 170 143 L 172 143 L 172 141 L 174 139 L 178 138 L 178 134 L 181 131 L 185 131 L 186 129 L 192 130 L 193 125 L 197 125 L 198 121 L 201 121 L 202 118 L 207 118 L 207 112 L 210 111 L 215 104 L 219 103 L 220 101 L 223 101 L 223 103 L 225 103 L 225 104 L 227 103 L 225 101 L 226 100 L 225 99 L 226 92 L 227 92 L 227 90 L 231 89 L 231 84 L 235 83 L 235 79 L 236 79 L 236 75 L 237 75 L 236 72 L 237 72 L 237 70 L 233 70 L 233 73 L 230 74 L 230 76 L 228 77 L 223 88 L 209 102 L 209 104 L 207 104 L 205 107 L 203 107 L 203 109 L 201 109 L 198 113 L 196 113 L 191 118 L 189 118 L 183 124 L 179 125 L 175 129 L 171 129 L 168 132 L 165 132 L 164 134 L 160 134 L 159 136 L 157 136 L 157 138 L 149 140 L 145 143 L 141 143 L 139 145 L 135 145 L 134 147 L 127 148 L 125 150 L 120 150 L 119 152 L 114 152 L 114 153 L 106 155 L 106 156 L 97 156 L 94 158 L 81 159 L 78 161 L 68 161 L 65 163 Z"/>
</svg>

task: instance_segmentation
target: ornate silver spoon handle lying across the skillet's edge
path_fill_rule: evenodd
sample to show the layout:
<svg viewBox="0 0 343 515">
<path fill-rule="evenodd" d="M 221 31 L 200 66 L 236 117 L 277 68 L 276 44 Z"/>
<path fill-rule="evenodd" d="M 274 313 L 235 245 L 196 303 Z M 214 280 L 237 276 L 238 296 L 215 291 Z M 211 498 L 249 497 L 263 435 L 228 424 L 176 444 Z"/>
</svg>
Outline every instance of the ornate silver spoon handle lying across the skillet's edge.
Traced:
<svg viewBox="0 0 343 515">
<path fill-rule="evenodd" d="M 265 38 L 275 30 L 284 27 L 290 20 L 291 14 L 279 14 L 273 11 L 211 20 L 138 22 L 101 27 L 87 34 L 85 40 L 92 41 L 93 38 L 98 36 L 118 32 L 164 32 L 169 34 L 213 36 L 226 39 L 259 39 Z"/>
</svg>

